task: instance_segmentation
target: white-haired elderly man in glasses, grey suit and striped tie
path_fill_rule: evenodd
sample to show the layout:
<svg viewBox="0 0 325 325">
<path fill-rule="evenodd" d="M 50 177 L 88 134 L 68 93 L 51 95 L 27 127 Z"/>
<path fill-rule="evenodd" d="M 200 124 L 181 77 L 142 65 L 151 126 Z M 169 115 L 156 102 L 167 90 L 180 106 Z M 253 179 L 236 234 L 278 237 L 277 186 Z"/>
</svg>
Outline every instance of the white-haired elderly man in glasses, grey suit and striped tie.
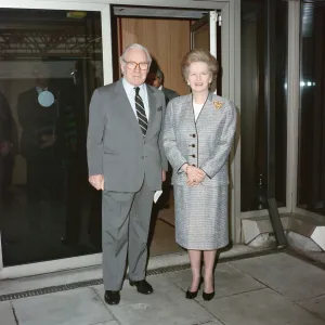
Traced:
<svg viewBox="0 0 325 325">
<path fill-rule="evenodd" d="M 120 56 L 122 78 L 94 91 L 88 129 L 89 182 L 103 191 L 105 301 L 117 304 L 128 256 L 129 281 L 140 294 L 145 281 L 147 236 L 154 193 L 168 168 L 160 129 L 165 98 L 145 84 L 152 58 L 141 44 Z"/>
</svg>

